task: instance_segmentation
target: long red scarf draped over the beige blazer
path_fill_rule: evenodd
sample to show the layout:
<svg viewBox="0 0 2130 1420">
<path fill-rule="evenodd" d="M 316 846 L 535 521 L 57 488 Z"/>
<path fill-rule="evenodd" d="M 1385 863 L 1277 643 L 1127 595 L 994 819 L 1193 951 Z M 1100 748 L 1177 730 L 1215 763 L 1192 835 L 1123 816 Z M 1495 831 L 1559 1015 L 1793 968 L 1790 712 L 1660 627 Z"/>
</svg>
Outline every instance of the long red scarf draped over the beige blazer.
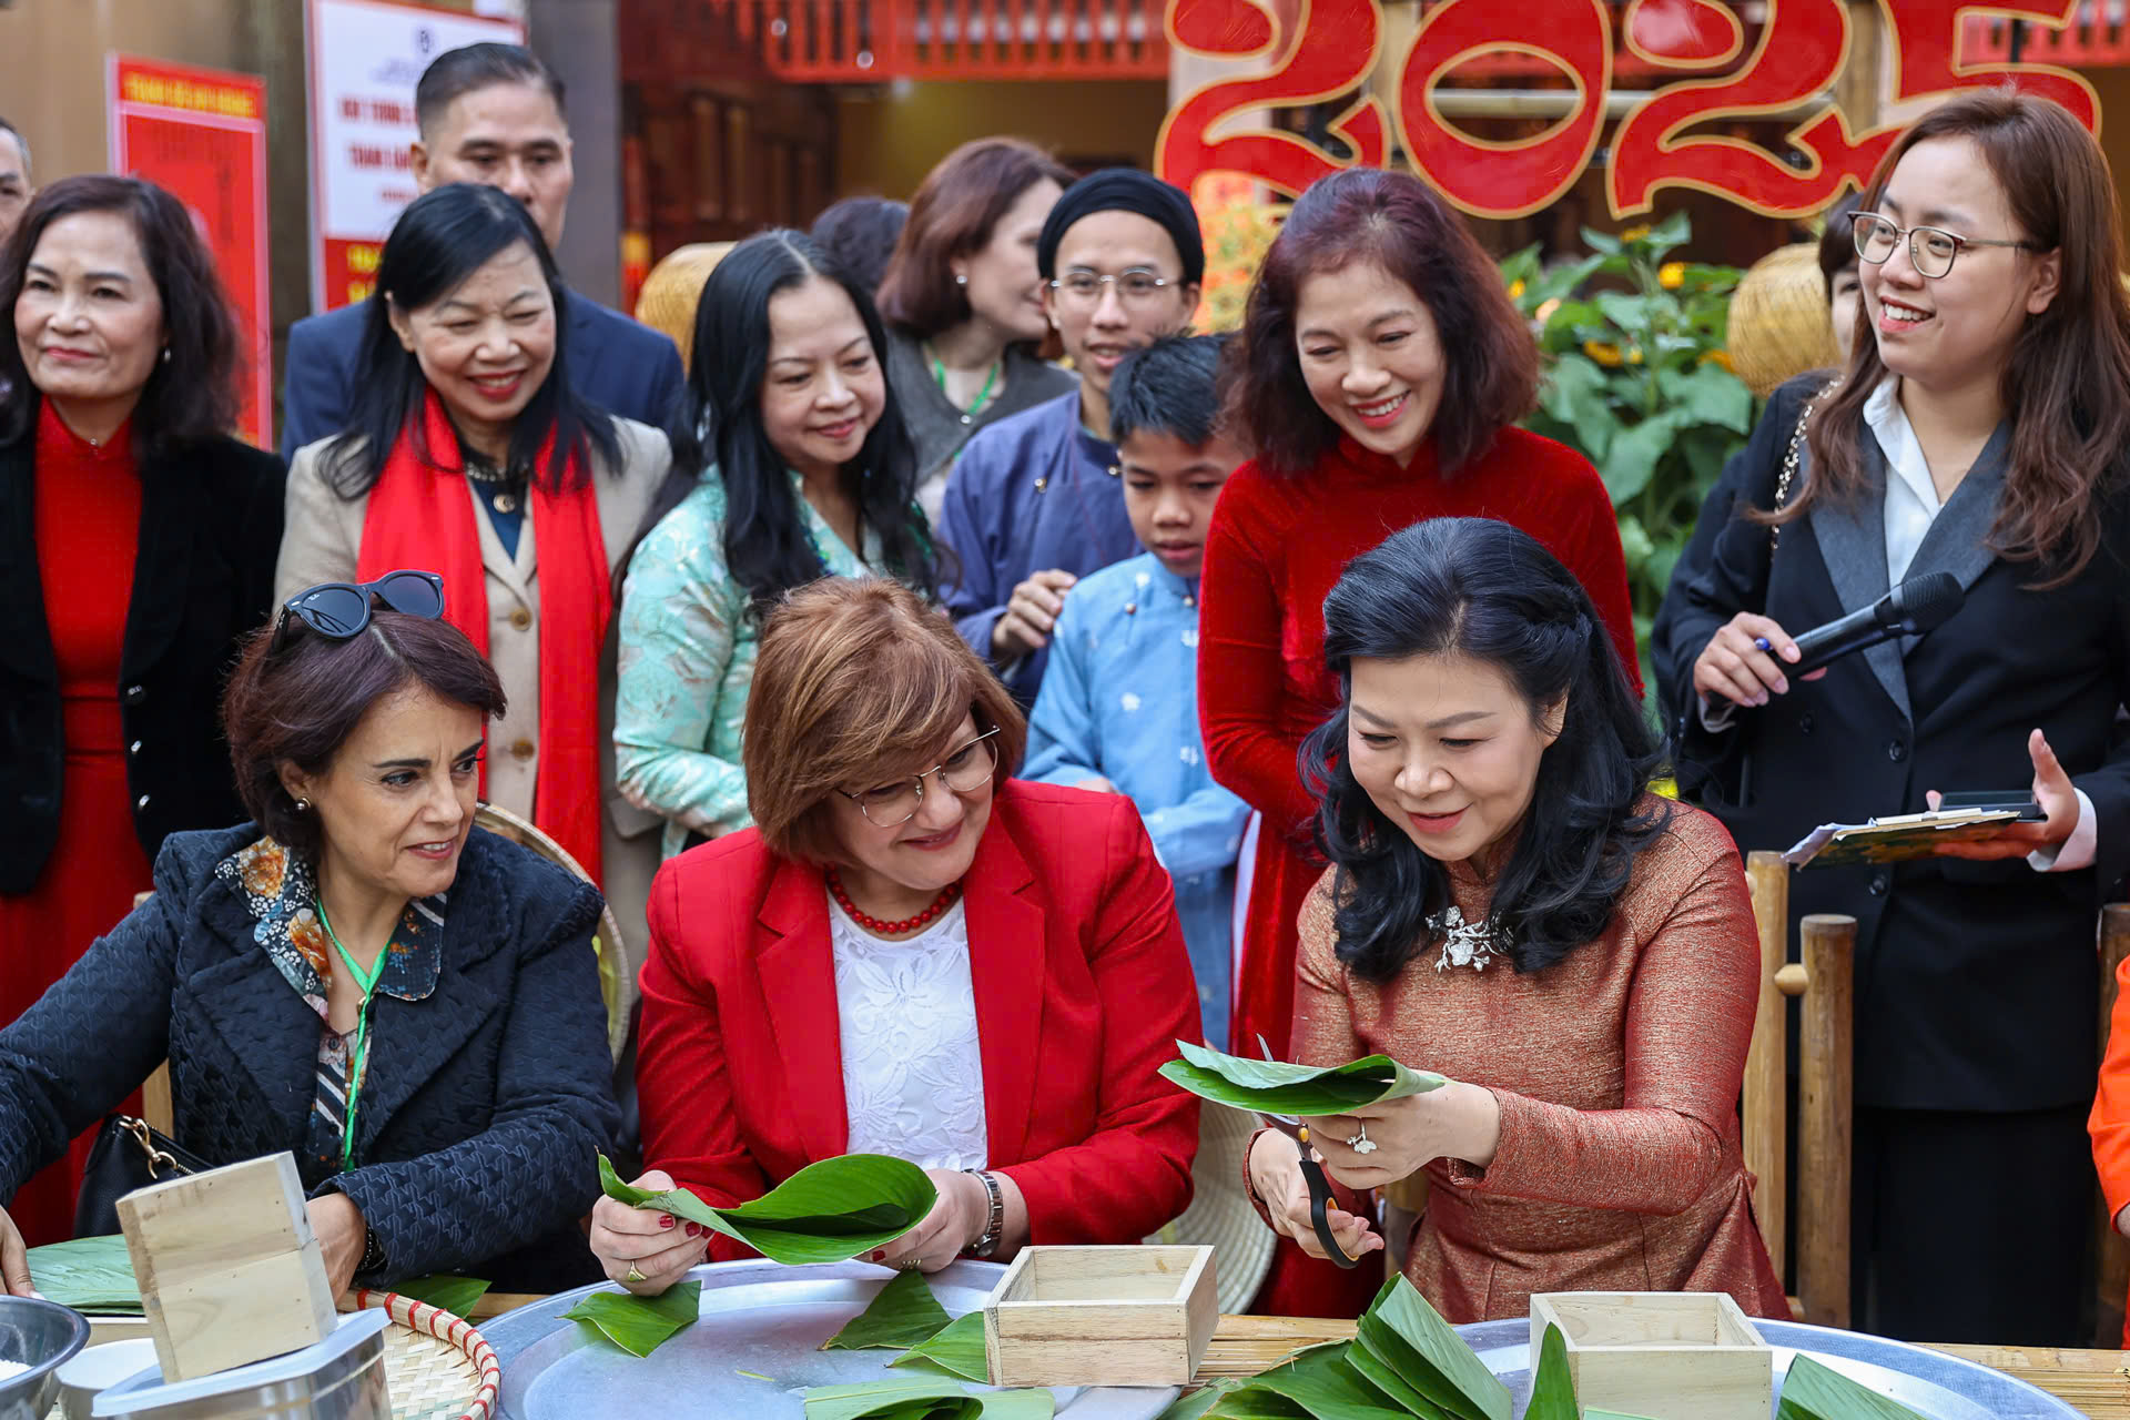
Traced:
<svg viewBox="0 0 2130 1420">
<path fill-rule="evenodd" d="M 422 422 L 420 430 L 415 419 Z M 488 573 L 481 532 L 466 490 L 458 432 L 443 400 L 428 392 L 422 413 L 407 422 L 362 515 L 362 551 L 356 579 L 371 581 L 396 566 L 443 575 L 443 615 L 488 656 Z M 545 470 L 554 443 L 535 468 Z M 590 479 L 579 481 L 577 456 L 569 460 L 571 492 L 532 481 L 530 522 L 520 536 L 539 532 L 539 775 L 532 783 L 532 822 L 539 824 L 596 881 L 599 815 L 599 647 L 607 641 L 613 592 L 607 543 L 599 530 L 599 498 Z M 481 794 L 488 766 L 481 766 Z"/>
</svg>

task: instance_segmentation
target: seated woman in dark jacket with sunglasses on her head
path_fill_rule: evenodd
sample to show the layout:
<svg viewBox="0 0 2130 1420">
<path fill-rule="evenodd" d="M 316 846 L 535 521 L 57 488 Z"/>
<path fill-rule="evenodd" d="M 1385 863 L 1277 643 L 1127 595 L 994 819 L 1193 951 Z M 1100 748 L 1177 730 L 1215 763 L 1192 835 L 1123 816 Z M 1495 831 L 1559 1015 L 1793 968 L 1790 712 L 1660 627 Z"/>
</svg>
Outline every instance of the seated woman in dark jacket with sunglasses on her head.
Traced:
<svg viewBox="0 0 2130 1420">
<path fill-rule="evenodd" d="M 155 894 L 0 1030 L 0 1199 L 168 1058 L 183 1150 L 294 1152 L 334 1292 L 590 1279 L 601 901 L 473 826 L 505 694 L 441 611 L 392 571 L 251 637 L 224 720 L 253 822 L 170 835 Z M 0 1275 L 30 1290 L 4 1216 Z"/>
</svg>

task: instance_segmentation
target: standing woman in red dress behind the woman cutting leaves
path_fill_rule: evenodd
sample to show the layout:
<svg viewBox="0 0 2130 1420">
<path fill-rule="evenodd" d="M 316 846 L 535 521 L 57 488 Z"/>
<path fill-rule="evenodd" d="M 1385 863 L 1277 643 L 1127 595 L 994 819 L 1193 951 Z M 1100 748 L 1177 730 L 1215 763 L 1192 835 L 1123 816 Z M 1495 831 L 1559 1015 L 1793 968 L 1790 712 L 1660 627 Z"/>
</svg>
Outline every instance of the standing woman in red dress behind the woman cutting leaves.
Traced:
<svg viewBox="0 0 2130 1420">
<path fill-rule="evenodd" d="M 1323 600 L 1346 562 L 1425 517 L 1495 517 L 1576 575 L 1627 666 L 1634 613 L 1598 470 L 1512 428 L 1536 402 L 1538 347 L 1493 262 L 1416 177 L 1353 168 L 1301 194 L 1231 356 L 1227 417 L 1257 458 L 1227 481 L 1206 543 L 1199 720 L 1214 779 L 1261 815 L 1229 1043 L 1257 1054 L 1263 1037 L 1284 1058 L 1295 922 L 1325 866 L 1295 756 L 1338 709 Z M 1259 1305 L 1353 1316 L 1372 1288 L 1338 1282 L 1282 1245 Z"/>
</svg>

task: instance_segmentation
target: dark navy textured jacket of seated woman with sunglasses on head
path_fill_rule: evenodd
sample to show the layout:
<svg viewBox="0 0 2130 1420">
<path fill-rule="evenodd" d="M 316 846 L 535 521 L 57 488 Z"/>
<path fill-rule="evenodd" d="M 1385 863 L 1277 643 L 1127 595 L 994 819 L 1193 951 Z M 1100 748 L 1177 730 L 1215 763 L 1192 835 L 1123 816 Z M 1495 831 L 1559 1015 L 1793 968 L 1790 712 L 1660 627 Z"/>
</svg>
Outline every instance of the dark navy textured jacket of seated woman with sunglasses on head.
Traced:
<svg viewBox="0 0 2130 1420">
<path fill-rule="evenodd" d="M 215 864 L 251 824 L 173 835 L 155 896 L 0 1030 L 0 1196 L 170 1058 L 177 1141 L 213 1165 L 294 1150 L 322 1022 L 251 939 Z M 475 830 L 426 1001 L 377 996 L 345 1192 L 386 1252 L 364 1282 L 471 1271 L 501 1290 L 596 1279 L 577 1218 L 618 1126 L 592 930 L 599 892 Z"/>
</svg>

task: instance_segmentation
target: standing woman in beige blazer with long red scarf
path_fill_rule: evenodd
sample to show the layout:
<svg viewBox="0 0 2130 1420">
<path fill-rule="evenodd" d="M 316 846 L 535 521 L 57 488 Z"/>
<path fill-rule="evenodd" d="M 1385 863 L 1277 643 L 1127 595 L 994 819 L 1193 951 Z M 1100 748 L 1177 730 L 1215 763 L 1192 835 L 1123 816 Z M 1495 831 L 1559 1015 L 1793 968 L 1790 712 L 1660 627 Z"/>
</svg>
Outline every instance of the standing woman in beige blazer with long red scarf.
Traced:
<svg viewBox="0 0 2130 1420">
<path fill-rule="evenodd" d="M 641 943 L 656 852 L 613 792 L 607 634 L 671 451 L 575 394 L 569 300 L 522 202 L 473 183 L 415 198 L 377 264 L 349 428 L 290 468 L 275 588 L 437 568 L 511 703 L 481 796 L 554 837 Z"/>
</svg>

